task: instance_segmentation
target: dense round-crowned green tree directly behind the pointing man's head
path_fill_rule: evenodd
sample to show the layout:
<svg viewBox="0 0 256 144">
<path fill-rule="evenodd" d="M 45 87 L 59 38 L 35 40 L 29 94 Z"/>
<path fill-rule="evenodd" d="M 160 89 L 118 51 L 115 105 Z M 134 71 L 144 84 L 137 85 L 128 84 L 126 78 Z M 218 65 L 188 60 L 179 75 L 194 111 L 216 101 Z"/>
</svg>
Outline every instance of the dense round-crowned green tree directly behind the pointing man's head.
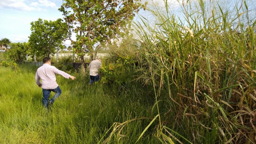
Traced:
<svg viewBox="0 0 256 144">
<path fill-rule="evenodd" d="M 56 48 L 63 49 L 62 45 L 68 36 L 68 26 L 62 19 L 56 21 L 42 20 L 31 22 L 31 34 L 29 36 L 30 53 L 39 56 L 47 56 L 55 53 Z"/>
</svg>

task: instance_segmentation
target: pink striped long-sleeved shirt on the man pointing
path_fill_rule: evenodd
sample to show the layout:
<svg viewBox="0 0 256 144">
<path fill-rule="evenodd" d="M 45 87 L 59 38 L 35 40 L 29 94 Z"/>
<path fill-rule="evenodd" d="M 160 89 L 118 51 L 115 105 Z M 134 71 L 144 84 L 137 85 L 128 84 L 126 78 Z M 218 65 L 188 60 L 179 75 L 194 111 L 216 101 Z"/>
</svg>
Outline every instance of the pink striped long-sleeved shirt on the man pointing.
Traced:
<svg viewBox="0 0 256 144">
<path fill-rule="evenodd" d="M 49 64 L 43 64 L 43 66 L 38 68 L 35 73 L 36 84 L 40 85 L 41 84 L 40 79 L 41 79 L 43 89 L 54 89 L 58 87 L 55 73 L 64 76 L 66 79 L 70 77 L 68 73 L 60 71 L 54 66 L 51 66 Z"/>
</svg>

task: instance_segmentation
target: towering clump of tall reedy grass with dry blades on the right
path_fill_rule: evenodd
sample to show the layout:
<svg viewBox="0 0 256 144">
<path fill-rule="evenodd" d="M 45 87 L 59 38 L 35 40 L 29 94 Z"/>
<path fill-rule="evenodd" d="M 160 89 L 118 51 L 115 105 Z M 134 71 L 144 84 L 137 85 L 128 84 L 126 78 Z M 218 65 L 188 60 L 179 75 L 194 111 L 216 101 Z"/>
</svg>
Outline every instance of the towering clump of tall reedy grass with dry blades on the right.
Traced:
<svg viewBox="0 0 256 144">
<path fill-rule="evenodd" d="M 151 78 L 156 107 L 168 103 L 156 135 L 163 143 L 256 143 L 256 19 L 246 1 L 232 17 L 220 5 L 209 12 L 204 1 L 183 2 L 183 15 L 166 1 L 165 13 L 149 9 L 154 26 L 143 17 L 135 24 L 138 79 Z"/>
</svg>

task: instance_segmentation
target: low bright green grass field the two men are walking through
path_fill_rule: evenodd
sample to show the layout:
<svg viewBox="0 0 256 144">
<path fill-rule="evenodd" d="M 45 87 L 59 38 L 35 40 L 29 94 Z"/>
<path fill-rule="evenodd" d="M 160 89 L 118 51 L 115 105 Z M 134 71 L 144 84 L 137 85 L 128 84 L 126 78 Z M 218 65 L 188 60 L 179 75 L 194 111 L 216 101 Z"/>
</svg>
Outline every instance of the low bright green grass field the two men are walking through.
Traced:
<svg viewBox="0 0 256 144">
<path fill-rule="evenodd" d="M 151 105 L 142 98 L 101 83 L 90 87 L 79 73 L 72 74 L 75 81 L 57 75 L 62 94 L 46 111 L 34 80 L 37 67 L 20 69 L 0 67 L 0 143 L 135 143 L 151 120 Z M 140 143 L 157 143 L 151 129 Z"/>
</svg>

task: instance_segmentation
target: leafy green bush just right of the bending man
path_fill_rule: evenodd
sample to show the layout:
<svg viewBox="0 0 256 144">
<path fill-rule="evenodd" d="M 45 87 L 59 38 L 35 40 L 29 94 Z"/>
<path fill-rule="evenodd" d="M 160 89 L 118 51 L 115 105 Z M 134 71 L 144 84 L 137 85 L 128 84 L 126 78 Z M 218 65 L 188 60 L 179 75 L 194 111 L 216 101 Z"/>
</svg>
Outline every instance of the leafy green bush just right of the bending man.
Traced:
<svg viewBox="0 0 256 144">
<path fill-rule="evenodd" d="M 103 83 L 123 84 L 130 82 L 132 75 L 136 71 L 135 65 L 138 65 L 139 53 L 135 46 L 135 41 L 131 36 L 122 40 L 120 46 L 116 43 L 109 45 L 109 63 L 102 65 L 100 70 Z"/>
</svg>

